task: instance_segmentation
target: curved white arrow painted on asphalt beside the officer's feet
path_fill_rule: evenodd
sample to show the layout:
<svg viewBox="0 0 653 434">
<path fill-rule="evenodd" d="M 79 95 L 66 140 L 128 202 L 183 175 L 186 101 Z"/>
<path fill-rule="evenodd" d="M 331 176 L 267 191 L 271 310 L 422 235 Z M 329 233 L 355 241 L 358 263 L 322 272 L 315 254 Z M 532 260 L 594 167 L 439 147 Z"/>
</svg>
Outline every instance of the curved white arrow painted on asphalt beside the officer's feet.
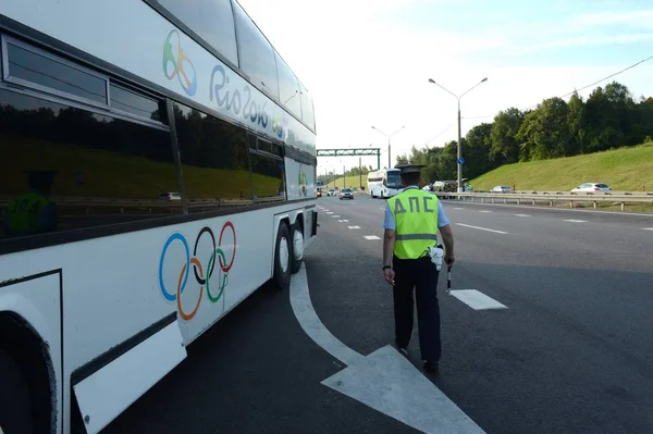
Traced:
<svg viewBox="0 0 653 434">
<path fill-rule="evenodd" d="M 347 364 L 321 384 L 423 433 L 484 434 L 392 346 L 364 357 L 333 336 L 312 307 L 304 264 L 292 280 L 291 306 L 304 332 Z"/>
</svg>

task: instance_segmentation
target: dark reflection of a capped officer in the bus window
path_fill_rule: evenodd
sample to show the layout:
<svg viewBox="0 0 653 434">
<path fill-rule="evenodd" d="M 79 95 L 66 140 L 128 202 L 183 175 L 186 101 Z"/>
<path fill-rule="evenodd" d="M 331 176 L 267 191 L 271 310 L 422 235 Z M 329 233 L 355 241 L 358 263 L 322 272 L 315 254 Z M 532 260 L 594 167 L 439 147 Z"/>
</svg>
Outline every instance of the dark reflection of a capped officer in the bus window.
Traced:
<svg viewBox="0 0 653 434">
<path fill-rule="evenodd" d="M 57 207 L 48 197 L 54 174 L 53 171 L 27 172 L 29 191 L 15 198 L 7 209 L 4 224 L 8 237 L 35 235 L 57 230 Z"/>
</svg>

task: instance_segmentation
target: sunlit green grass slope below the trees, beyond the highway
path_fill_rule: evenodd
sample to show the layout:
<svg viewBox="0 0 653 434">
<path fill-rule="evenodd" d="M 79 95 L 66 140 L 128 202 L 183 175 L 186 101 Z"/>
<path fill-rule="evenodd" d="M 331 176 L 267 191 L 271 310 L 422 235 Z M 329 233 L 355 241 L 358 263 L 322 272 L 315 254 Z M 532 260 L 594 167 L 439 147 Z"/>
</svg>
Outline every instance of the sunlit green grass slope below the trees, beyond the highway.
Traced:
<svg viewBox="0 0 653 434">
<path fill-rule="evenodd" d="M 582 183 L 605 183 L 616 191 L 653 190 L 653 142 L 587 156 L 502 165 L 470 184 L 476 191 L 496 185 L 522 190 L 569 191 Z"/>
</svg>

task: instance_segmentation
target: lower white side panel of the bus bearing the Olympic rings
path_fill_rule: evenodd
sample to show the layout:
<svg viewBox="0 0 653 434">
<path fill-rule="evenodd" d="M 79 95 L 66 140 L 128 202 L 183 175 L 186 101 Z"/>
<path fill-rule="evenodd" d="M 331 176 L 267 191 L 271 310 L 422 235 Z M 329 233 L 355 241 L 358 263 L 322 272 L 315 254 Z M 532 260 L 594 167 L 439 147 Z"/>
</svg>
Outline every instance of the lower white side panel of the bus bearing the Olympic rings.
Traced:
<svg viewBox="0 0 653 434">
<path fill-rule="evenodd" d="M 291 222 L 299 214 L 313 212 L 312 207 L 297 208 L 297 203 L 285 202 L 5 256 L 0 262 L 0 275 L 9 281 L 60 269 L 63 302 L 59 302 L 59 274 L 54 274 L 48 276 L 47 284 L 40 277 L 0 288 L 0 309 L 24 317 L 48 343 L 57 384 L 62 374 L 60 306 L 64 379 L 175 311 L 187 346 L 271 278 L 274 249 L 264 246 L 274 246 L 273 225 L 280 220 L 274 214 L 280 210 Z M 305 234 L 310 234 L 309 230 L 305 225 Z M 308 247 L 315 236 L 305 238 Z M 199 284 L 196 270 L 199 280 L 208 285 Z M 144 384 L 138 396 L 150 386 Z M 69 390 L 63 388 L 64 419 L 70 414 Z M 61 414 L 61 400 L 57 399 L 57 404 Z"/>
</svg>

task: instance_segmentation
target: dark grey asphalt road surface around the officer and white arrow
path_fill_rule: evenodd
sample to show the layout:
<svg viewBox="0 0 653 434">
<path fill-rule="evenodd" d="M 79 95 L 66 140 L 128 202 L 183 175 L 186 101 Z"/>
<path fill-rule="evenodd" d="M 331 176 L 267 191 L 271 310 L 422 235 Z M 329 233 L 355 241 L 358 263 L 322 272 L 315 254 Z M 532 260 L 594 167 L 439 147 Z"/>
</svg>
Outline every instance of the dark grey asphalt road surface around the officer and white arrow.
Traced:
<svg viewBox="0 0 653 434">
<path fill-rule="evenodd" d="M 429 379 L 486 433 L 653 432 L 653 216 L 444 203 L 453 288 L 507 309 L 471 309 L 442 274 L 443 359 Z M 393 340 L 384 202 L 320 204 L 332 214 L 306 255 L 310 297 L 334 336 L 369 355 Z M 421 369 L 417 332 L 409 359 Z M 342 369 L 288 294 L 263 287 L 104 432 L 415 432 L 320 384 Z"/>
</svg>

